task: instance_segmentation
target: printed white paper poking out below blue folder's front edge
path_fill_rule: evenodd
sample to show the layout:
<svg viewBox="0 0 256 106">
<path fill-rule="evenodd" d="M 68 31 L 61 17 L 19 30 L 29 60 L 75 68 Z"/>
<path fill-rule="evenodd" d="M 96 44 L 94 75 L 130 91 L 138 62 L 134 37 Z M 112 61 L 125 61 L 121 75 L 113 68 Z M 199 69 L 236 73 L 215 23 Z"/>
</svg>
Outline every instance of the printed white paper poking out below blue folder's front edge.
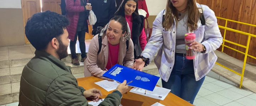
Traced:
<svg viewBox="0 0 256 106">
<path fill-rule="evenodd" d="M 132 90 L 130 90 L 130 92 L 132 93 L 148 96 L 150 98 L 159 99 L 159 100 L 164 100 L 166 96 L 170 93 L 170 91 L 171 91 L 170 89 L 166 89 L 162 87 L 155 87 L 153 92 L 146 90 L 146 94 L 145 94 L 145 89 L 134 87 Z"/>
</svg>

